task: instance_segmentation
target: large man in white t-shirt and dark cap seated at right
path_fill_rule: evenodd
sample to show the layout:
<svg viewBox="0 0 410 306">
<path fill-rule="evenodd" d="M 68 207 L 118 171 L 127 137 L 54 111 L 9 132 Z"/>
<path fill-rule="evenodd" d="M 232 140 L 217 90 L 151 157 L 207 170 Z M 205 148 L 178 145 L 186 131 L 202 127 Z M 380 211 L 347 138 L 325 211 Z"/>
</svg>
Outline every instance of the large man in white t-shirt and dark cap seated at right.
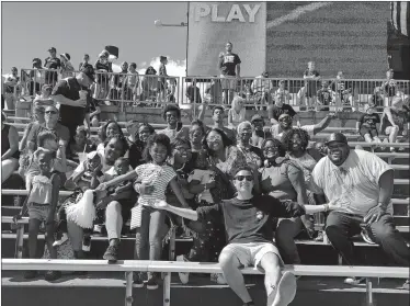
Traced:
<svg viewBox="0 0 410 306">
<path fill-rule="evenodd" d="M 346 137 L 333 133 L 326 143 L 328 156 L 315 167 L 309 189 L 338 200 L 340 208 L 328 215 L 326 234 L 350 265 L 358 265 L 350 238 L 364 233 L 397 265 L 409 267 L 409 248 L 396 230 L 391 194 L 392 168 L 372 152 L 350 149 Z M 362 280 L 346 279 L 358 284 Z"/>
</svg>

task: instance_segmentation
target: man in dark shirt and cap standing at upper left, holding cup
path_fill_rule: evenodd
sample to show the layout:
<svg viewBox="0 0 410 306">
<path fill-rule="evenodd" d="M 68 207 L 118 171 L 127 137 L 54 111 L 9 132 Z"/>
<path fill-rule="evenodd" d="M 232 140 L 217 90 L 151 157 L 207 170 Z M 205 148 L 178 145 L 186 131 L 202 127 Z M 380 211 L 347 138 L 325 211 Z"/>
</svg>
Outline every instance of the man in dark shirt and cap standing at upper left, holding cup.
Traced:
<svg viewBox="0 0 410 306">
<path fill-rule="evenodd" d="M 79 125 L 84 124 L 90 129 L 89 107 L 92 98 L 89 87 L 93 81 L 94 69 L 83 67 L 75 78 L 60 80 L 53 89 L 52 98 L 60 104 L 60 123 L 68 127 L 71 139 Z"/>
</svg>

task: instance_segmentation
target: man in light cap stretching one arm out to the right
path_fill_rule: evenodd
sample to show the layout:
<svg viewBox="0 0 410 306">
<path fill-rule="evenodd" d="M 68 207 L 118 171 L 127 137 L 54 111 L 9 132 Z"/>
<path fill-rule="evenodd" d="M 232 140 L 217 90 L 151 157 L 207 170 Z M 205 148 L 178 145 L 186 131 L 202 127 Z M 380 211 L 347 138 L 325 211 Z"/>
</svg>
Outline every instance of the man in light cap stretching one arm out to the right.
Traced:
<svg viewBox="0 0 410 306">
<path fill-rule="evenodd" d="M 329 113 L 317 124 L 309 124 L 309 125 L 303 125 L 300 126 L 301 129 L 305 129 L 310 137 L 318 134 L 319 132 L 327 128 L 331 122 L 332 118 L 334 118 L 334 113 Z M 278 117 L 278 125 L 274 125 L 271 127 L 272 136 L 280 139 L 282 138 L 282 135 L 284 132 L 291 131 L 293 128 L 292 126 L 292 117 L 288 114 L 282 114 Z"/>
</svg>

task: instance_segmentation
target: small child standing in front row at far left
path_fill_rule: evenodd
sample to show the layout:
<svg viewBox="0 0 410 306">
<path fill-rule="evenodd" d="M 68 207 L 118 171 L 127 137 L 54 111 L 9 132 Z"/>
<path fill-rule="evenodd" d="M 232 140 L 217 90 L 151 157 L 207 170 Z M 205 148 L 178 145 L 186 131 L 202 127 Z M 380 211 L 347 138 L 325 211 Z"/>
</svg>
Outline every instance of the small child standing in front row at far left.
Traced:
<svg viewBox="0 0 410 306">
<path fill-rule="evenodd" d="M 29 196 L 23 204 L 21 213 L 15 216 L 19 219 L 29 212 L 29 253 L 30 258 L 37 258 L 37 235 L 42 223 L 46 225 L 45 240 L 52 259 L 57 259 L 57 251 L 53 248 L 56 207 L 60 178 L 53 173 L 54 151 L 39 147 L 33 155 L 38 172 L 30 181 Z M 26 271 L 24 279 L 36 277 L 36 271 Z M 59 271 L 48 271 L 47 281 L 55 281 L 61 276 Z"/>
</svg>

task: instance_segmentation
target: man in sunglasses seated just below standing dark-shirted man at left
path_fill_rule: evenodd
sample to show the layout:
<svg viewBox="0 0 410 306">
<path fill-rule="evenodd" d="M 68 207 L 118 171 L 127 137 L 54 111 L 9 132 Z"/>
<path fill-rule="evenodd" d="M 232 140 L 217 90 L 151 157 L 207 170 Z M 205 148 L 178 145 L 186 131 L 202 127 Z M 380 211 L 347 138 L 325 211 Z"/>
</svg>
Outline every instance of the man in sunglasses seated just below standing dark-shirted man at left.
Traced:
<svg viewBox="0 0 410 306">
<path fill-rule="evenodd" d="M 29 151 L 34 152 L 37 149 L 37 136 L 42 131 L 48 129 L 56 134 L 61 146 L 67 148 L 70 139 L 70 132 L 66 126 L 58 122 L 59 112 L 56 106 L 47 106 L 44 110 L 45 122 L 33 124 L 27 136 Z M 59 151 L 58 151 L 59 152 Z"/>
</svg>

